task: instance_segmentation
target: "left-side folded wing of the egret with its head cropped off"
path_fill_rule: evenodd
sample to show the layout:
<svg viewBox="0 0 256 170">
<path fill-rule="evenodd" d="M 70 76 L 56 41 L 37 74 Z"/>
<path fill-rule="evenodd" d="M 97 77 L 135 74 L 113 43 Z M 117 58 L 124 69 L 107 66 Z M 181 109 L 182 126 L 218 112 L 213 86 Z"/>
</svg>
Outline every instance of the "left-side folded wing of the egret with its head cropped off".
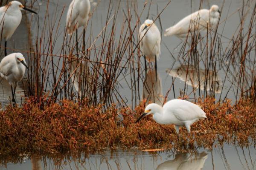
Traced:
<svg viewBox="0 0 256 170">
<path fill-rule="evenodd" d="M 68 11 L 67 11 L 66 26 L 67 26 L 69 34 L 71 34 L 74 31 L 75 27 L 76 27 L 76 18 L 79 15 L 79 10 L 77 8 L 77 4 L 78 3 L 75 0 L 73 0 L 70 3 L 70 6 L 69 6 Z"/>
</svg>

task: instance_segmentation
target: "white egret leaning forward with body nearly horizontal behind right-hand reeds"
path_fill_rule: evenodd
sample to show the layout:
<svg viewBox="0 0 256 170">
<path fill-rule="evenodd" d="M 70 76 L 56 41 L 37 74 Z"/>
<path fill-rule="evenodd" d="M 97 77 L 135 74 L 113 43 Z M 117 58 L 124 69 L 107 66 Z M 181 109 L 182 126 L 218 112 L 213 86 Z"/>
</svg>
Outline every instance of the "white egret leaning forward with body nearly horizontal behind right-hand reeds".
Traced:
<svg viewBox="0 0 256 170">
<path fill-rule="evenodd" d="M 217 5 L 213 5 L 210 9 L 201 9 L 186 16 L 174 26 L 167 28 L 164 36 L 176 35 L 183 38 L 187 36 L 189 30 L 195 32 L 207 28 L 216 28 L 219 15 L 220 11 Z"/>
</svg>

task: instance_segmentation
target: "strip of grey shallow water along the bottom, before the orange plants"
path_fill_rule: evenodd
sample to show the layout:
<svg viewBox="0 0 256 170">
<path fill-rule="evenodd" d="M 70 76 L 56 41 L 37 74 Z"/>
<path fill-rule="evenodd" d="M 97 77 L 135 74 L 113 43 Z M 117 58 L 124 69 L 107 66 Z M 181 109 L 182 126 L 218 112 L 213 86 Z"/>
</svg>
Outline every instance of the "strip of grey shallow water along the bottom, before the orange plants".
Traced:
<svg viewBox="0 0 256 170">
<path fill-rule="evenodd" d="M 62 158 L 61 158 L 62 157 Z M 22 163 L 7 163 L 0 170 L 255 170 L 254 147 L 225 145 L 212 151 L 195 153 L 142 152 L 138 150 L 106 150 L 79 158 L 65 156 L 24 158 Z M 64 159 L 63 159 L 64 158 Z"/>
</svg>

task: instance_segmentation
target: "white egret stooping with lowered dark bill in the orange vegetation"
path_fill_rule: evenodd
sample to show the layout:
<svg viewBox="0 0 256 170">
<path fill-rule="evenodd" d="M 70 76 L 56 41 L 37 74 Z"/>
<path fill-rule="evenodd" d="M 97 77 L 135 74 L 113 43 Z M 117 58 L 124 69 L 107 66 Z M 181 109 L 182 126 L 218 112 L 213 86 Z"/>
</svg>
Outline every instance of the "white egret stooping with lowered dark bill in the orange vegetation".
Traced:
<svg viewBox="0 0 256 170">
<path fill-rule="evenodd" d="M 153 119 L 160 124 L 174 124 L 176 132 L 179 133 L 179 127 L 185 126 L 190 133 L 190 125 L 200 119 L 207 118 L 206 113 L 200 106 L 182 99 L 173 99 L 162 106 L 155 103 L 147 105 L 144 113 L 137 119 L 140 121 L 144 116 L 153 114 Z"/>
</svg>

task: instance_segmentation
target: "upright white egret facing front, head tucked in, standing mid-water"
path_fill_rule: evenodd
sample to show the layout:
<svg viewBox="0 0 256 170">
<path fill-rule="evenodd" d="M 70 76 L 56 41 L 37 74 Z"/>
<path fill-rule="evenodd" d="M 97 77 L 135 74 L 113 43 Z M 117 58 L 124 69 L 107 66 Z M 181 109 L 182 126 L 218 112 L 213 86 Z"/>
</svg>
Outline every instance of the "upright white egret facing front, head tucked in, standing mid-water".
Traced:
<svg viewBox="0 0 256 170">
<path fill-rule="evenodd" d="M 155 62 L 155 70 L 157 73 L 157 59 L 160 57 L 161 34 L 157 26 L 154 24 L 154 21 L 145 20 L 145 22 L 140 26 L 139 36 L 140 47 L 143 55 L 149 62 Z"/>
</svg>

